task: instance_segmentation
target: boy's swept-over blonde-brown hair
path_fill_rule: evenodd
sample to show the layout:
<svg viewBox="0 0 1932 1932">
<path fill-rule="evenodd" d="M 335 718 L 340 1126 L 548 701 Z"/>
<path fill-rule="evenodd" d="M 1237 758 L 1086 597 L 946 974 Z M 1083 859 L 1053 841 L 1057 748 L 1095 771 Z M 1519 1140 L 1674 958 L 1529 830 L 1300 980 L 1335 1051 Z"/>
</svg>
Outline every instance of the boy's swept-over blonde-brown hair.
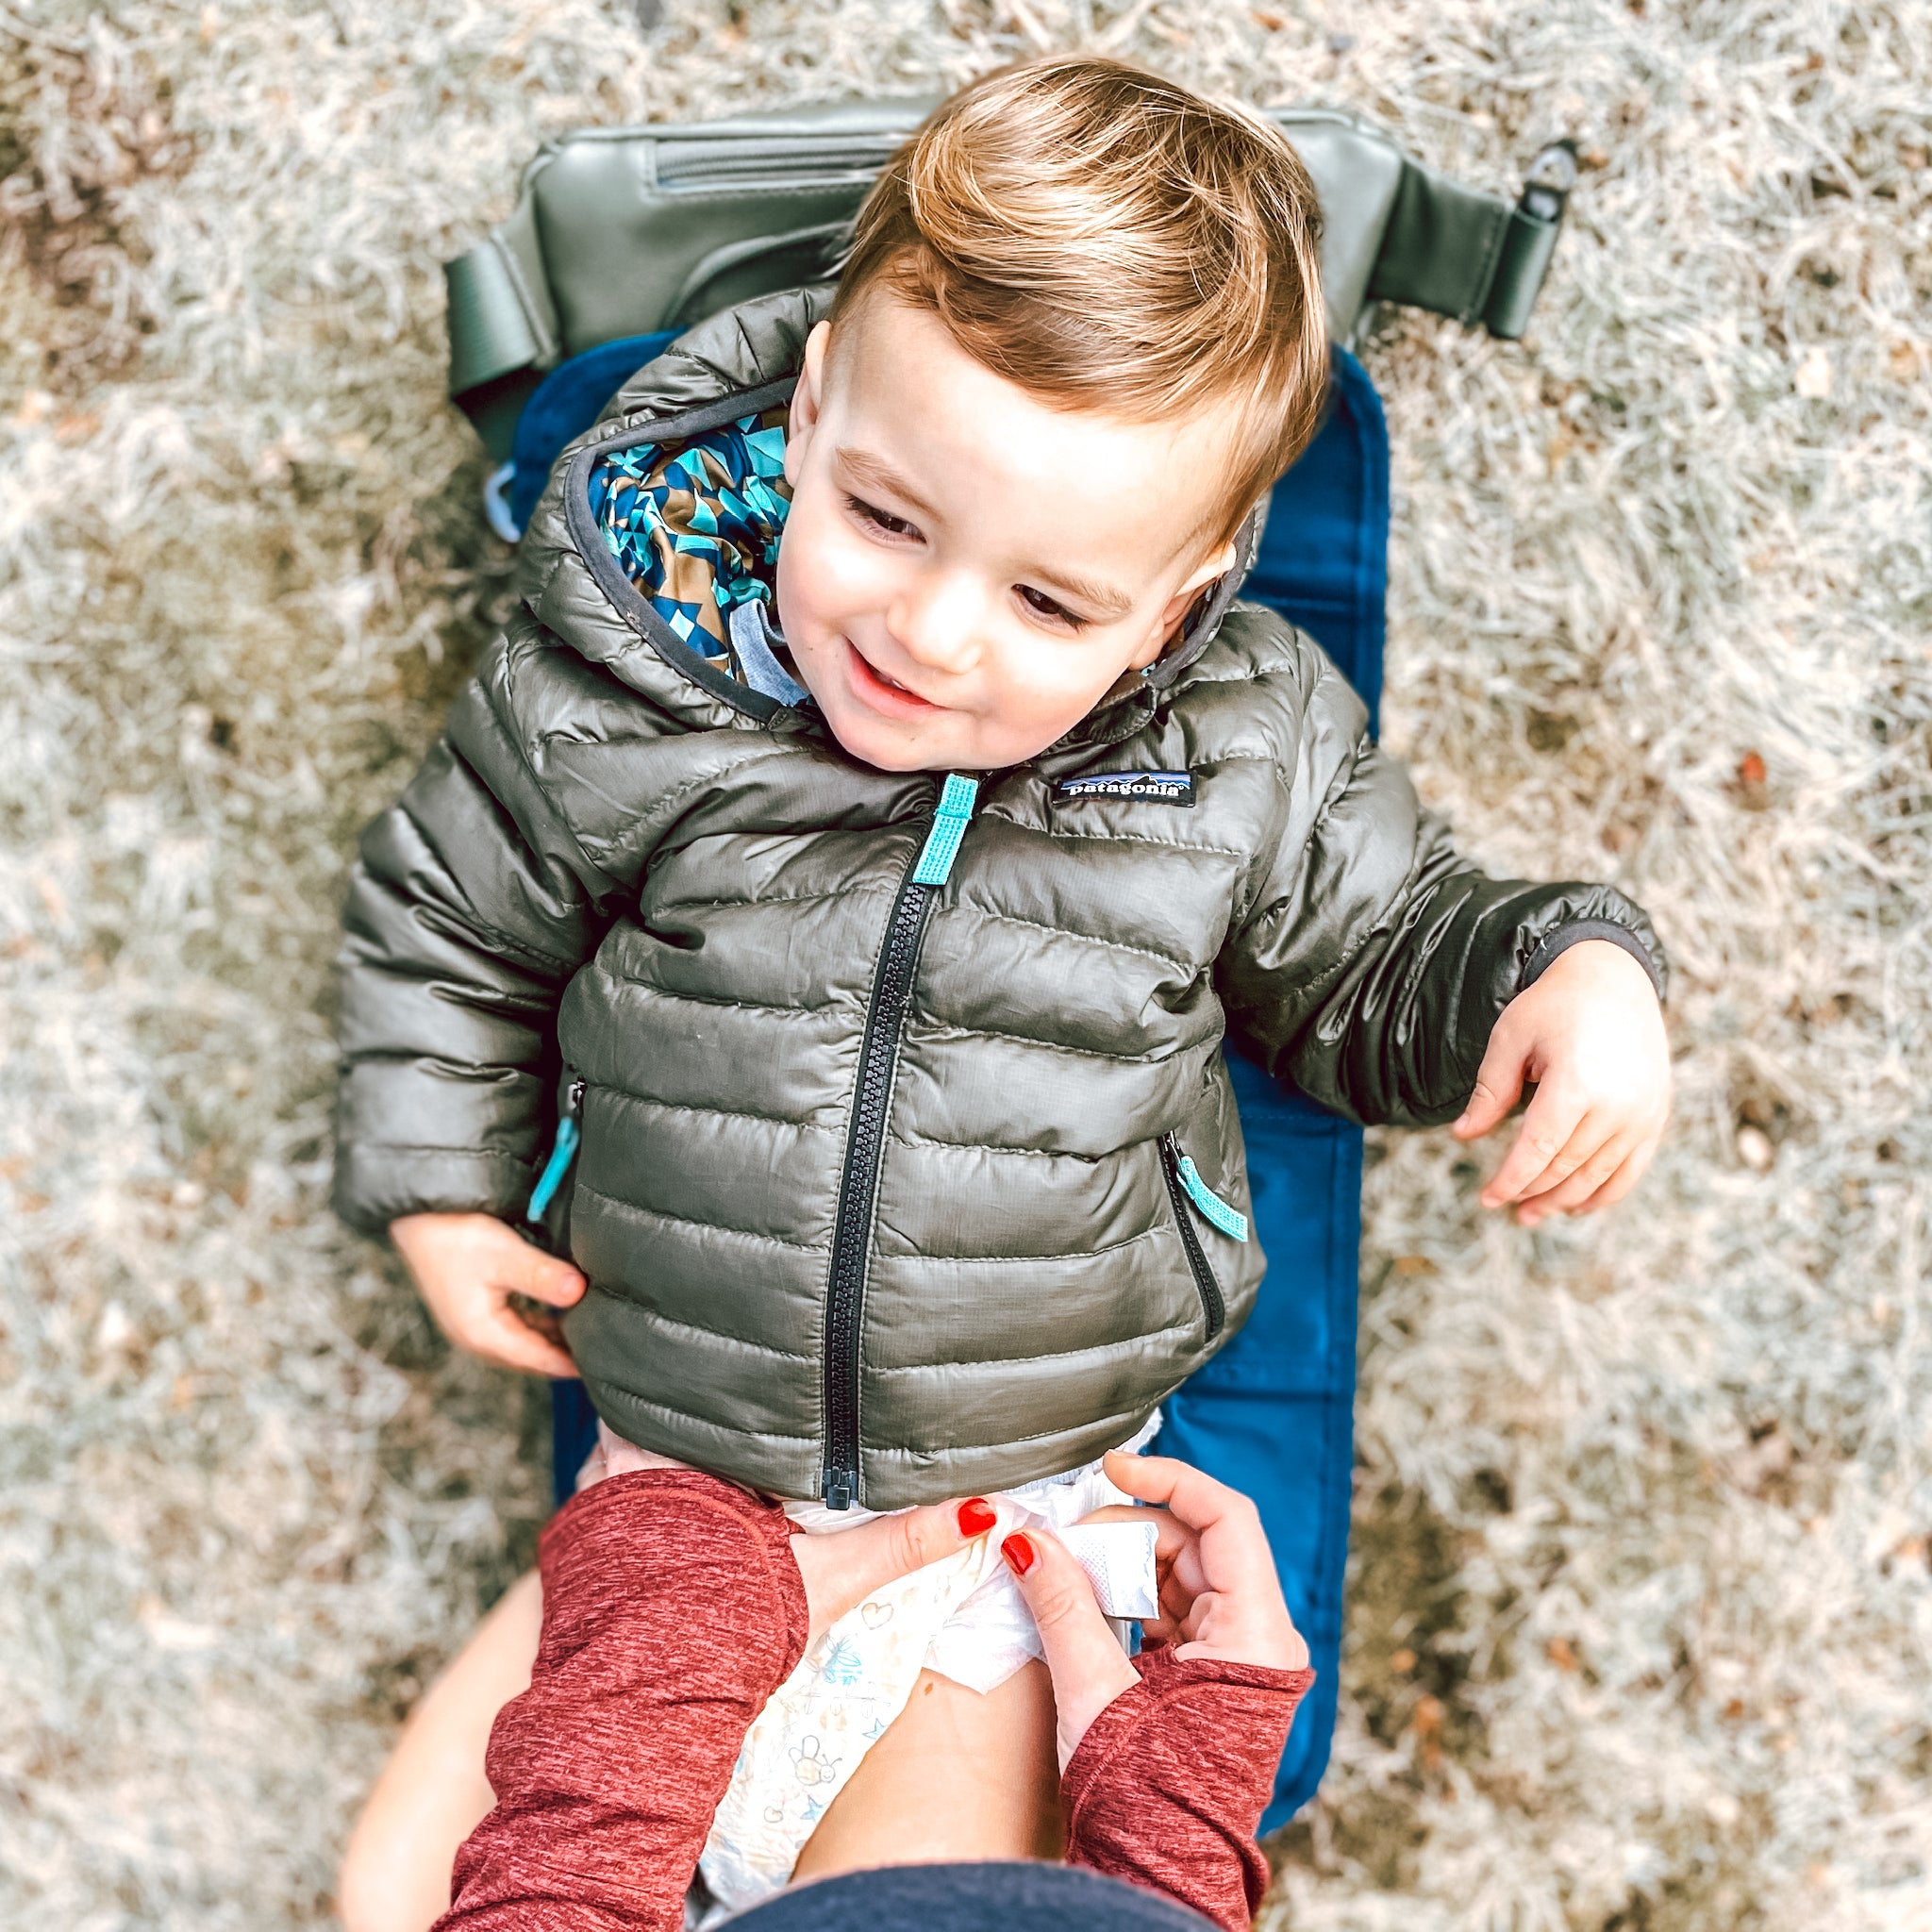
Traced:
<svg viewBox="0 0 1932 1932">
<path fill-rule="evenodd" d="M 1316 189 L 1258 114 L 1119 60 L 1049 56 L 952 95 L 858 213 L 837 321 L 885 286 L 1053 406 L 1231 406 L 1204 524 L 1227 537 L 1327 388 Z"/>
</svg>

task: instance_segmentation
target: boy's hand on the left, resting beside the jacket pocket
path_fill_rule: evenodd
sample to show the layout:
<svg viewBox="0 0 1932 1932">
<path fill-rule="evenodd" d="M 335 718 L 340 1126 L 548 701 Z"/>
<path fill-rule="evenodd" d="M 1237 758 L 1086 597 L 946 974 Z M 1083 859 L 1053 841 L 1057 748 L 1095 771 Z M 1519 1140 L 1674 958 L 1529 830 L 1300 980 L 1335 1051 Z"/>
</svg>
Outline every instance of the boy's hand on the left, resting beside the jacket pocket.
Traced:
<svg viewBox="0 0 1932 1932">
<path fill-rule="evenodd" d="M 388 1233 L 437 1327 L 458 1349 L 527 1376 L 576 1378 L 556 1318 L 539 1318 L 539 1329 L 510 1306 L 512 1294 L 551 1308 L 582 1300 L 583 1277 L 568 1262 L 487 1213 L 412 1213 L 390 1221 Z"/>
</svg>

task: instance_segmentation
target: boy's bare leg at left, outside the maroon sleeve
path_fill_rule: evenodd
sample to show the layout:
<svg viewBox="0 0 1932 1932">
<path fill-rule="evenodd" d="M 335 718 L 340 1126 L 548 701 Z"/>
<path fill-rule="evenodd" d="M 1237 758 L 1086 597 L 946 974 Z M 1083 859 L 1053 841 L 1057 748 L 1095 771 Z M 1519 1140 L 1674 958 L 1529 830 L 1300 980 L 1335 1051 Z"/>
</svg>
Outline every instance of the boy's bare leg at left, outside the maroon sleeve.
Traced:
<svg viewBox="0 0 1932 1932">
<path fill-rule="evenodd" d="M 541 1627 L 531 1571 L 410 1712 L 342 1857 L 336 1909 L 346 1932 L 427 1932 L 448 1909 L 456 1849 L 497 1803 L 483 1776 L 489 1731 L 529 1689 Z"/>
</svg>

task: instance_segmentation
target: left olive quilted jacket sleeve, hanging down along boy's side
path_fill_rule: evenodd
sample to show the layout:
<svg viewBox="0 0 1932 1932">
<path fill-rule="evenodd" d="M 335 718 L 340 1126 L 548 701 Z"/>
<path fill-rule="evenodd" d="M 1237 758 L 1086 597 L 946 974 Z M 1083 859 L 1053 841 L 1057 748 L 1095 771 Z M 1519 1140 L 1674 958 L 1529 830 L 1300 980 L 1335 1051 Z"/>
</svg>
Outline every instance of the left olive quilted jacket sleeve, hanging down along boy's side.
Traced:
<svg viewBox="0 0 1932 1932">
<path fill-rule="evenodd" d="M 336 1211 L 516 1217 L 549 1132 L 556 1007 L 609 889 L 535 782 L 502 643 L 363 835 L 340 956 Z"/>
</svg>

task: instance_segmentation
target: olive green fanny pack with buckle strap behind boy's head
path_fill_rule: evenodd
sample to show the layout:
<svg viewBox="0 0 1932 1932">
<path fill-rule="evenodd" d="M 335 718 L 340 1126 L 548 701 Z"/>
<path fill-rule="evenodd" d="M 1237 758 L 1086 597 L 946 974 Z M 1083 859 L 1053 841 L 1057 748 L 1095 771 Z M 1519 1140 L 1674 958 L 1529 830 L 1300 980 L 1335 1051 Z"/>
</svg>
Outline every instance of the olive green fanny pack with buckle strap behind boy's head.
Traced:
<svg viewBox="0 0 1932 1932">
<path fill-rule="evenodd" d="M 444 267 L 452 400 L 502 458 L 524 400 L 568 357 L 831 276 L 866 189 L 931 106 L 848 102 L 545 143 L 510 218 Z M 1321 197 L 1339 342 L 1376 301 L 1522 334 L 1575 180 L 1569 143 L 1536 156 L 1511 203 L 1432 174 L 1347 114 L 1267 114 Z"/>
</svg>

